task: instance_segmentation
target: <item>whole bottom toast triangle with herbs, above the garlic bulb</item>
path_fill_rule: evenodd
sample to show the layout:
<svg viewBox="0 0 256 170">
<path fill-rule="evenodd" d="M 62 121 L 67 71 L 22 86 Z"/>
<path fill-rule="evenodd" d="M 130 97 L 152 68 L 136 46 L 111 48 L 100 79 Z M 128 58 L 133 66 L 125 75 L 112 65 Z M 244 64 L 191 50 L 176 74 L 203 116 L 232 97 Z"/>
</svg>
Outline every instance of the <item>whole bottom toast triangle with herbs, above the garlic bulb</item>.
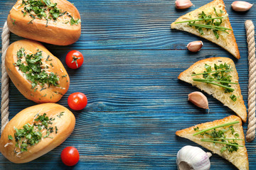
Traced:
<svg viewBox="0 0 256 170">
<path fill-rule="evenodd" d="M 249 169 L 242 121 L 236 115 L 178 130 L 176 135 L 192 140 L 220 155 L 240 170 Z"/>
</svg>

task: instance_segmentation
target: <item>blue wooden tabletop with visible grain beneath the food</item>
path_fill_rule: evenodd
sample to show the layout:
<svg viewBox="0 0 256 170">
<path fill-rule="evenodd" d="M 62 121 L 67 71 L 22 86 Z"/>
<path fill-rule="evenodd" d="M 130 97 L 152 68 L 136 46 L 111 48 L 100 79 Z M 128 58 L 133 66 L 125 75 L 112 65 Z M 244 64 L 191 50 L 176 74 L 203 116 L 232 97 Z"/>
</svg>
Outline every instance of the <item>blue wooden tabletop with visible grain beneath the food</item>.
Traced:
<svg viewBox="0 0 256 170">
<path fill-rule="evenodd" d="M 0 154 L 0 169 L 176 169 L 178 150 L 185 145 L 198 146 L 176 137 L 176 130 L 235 114 L 209 95 L 210 113 L 187 101 L 187 95 L 198 89 L 178 81 L 178 74 L 208 57 L 230 57 L 235 61 L 247 106 L 244 22 L 252 19 L 256 24 L 256 6 L 247 13 L 238 13 L 231 9 L 231 0 L 225 1 L 241 53 L 241 59 L 236 60 L 212 42 L 170 29 L 178 16 L 210 0 L 194 0 L 195 6 L 187 10 L 176 10 L 170 0 L 70 1 L 80 11 L 80 40 L 65 47 L 44 45 L 60 58 L 70 75 L 70 89 L 58 103 L 68 107 L 68 96 L 80 91 L 87 95 L 87 107 L 73 112 L 75 130 L 62 145 L 26 164 L 11 163 Z M 2 28 L 16 1 L 0 2 Z M 21 39 L 11 34 L 11 42 Z M 200 52 L 186 50 L 193 40 L 203 40 Z M 80 69 L 66 66 L 65 55 L 70 50 L 80 50 L 84 55 Z M 10 83 L 9 118 L 35 104 Z M 246 132 L 247 123 L 243 128 Z M 73 167 L 65 166 L 60 159 L 67 146 L 80 152 L 80 162 Z M 256 140 L 246 143 L 246 147 L 250 169 L 256 169 Z M 210 162 L 211 169 L 235 169 L 216 154 Z"/>
</svg>

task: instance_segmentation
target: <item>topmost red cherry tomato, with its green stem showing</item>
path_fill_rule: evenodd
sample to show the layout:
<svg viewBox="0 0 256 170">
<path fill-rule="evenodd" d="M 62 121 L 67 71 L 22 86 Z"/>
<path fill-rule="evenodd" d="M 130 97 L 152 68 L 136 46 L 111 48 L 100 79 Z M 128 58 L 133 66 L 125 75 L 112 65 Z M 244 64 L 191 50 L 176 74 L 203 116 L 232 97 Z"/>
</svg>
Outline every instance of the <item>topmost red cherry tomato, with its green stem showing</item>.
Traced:
<svg viewBox="0 0 256 170">
<path fill-rule="evenodd" d="M 78 69 L 81 67 L 83 62 L 83 56 L 82 53 L 78 50 L 72 50 L 68 52 L 68 55 L 66 55 L 65 62 L 70 67 L 70 69 Z"/>
</svg>

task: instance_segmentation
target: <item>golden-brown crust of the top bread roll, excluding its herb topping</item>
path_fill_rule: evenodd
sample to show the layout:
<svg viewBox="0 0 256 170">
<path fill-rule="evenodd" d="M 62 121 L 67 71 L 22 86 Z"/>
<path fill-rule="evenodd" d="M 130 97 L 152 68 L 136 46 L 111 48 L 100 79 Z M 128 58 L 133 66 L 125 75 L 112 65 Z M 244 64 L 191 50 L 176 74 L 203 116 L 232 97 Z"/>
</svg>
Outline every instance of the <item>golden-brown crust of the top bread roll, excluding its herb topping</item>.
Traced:
<svg viewBox="0 0 256 170">
<path fill-rule="evenodd" d="M 31 40 L 37 40 L 41 42 L 47 42 L 54 45 L 70 45 L 76 42 L 81 35 L 81 23 L 70 26 L 70 23 L 65 24 L 61 21 L 49 21 L 46 27 L 46 19 L 36 18 L 31 21 L 31 17 L 27 14 L 23 16 L 20 6 L 22 0 L 18 0 L 14 6 L 16 9 L 11 8 L 9 16 L 7 18 L 7 24 L 9 30 L 18 36 L 28 38 Z M 62 11 L 68 11 L 73 18 L 80 18 L 78 9 L 73 4 L 66 0 L 51 0 L 53 3 L 57 3 L 57 7 Z"/>
</svg>

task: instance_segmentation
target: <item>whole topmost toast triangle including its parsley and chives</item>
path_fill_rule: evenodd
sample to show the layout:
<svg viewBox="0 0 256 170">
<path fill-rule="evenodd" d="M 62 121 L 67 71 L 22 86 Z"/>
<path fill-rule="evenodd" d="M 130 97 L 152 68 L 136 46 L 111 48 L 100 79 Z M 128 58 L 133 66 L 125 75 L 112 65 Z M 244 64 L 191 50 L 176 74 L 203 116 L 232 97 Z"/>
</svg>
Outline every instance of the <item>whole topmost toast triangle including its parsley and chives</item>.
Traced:
<svg viewBox="0 0 256 170">
<path fill-rule="evenodd" d="M 218 17 L 222 18 L 209 20 L 209 18 Z M 208 20 L 201 20 L 195 22 L 191 21 L 198 19 Z M 188 23 L 183 21 L 191 22 Z M 195 26 L 197 26 L 197 28 Z M 213 30 L 213 27 L 215 27 L 216 29 Z M 210 29 L 207 30 L 207 28 Z M 230 52 L 234 57 L 240 59 L 238 44 L 235 40 L 235 35 L 233 33 L 228 18 L 228 13 L 225 10 L 225 4 L 223 0 L 214 0 L 209 4 L 201 6 L 200 8 L 191 11 L 190 13 L 187 13 L 184 16 L 181 16 L 174 23 L 171 23 L 171 29 L 184 30 L 188 33 L 198 35 L 201 38 L 206 38 L 207 40 L 210 40 L 211 42 L 220 45 L 220 47 L 223 47 L 225 50 Z"/>
</svg>

